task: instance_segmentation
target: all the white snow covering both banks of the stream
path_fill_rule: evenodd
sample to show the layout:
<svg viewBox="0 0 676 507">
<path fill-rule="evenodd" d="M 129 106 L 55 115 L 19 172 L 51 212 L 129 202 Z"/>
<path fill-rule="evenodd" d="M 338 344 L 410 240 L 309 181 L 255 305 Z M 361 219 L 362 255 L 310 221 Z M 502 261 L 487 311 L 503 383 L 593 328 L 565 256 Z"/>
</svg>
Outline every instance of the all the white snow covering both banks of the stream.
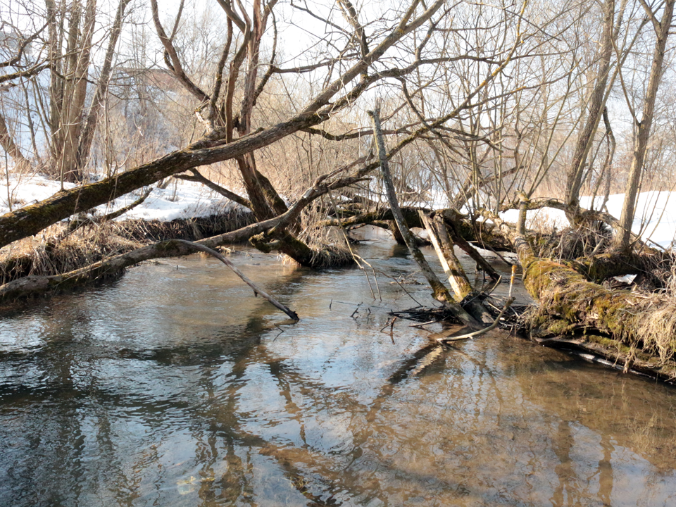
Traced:
<svg viewBox="0 0 676 507">
<path fill-rule="evenodd" d="M 73 184 L 65 183 L 65 189 L 73 188 Z M 61 184 L 44 177 L 21 177 L 20 180 L 10 176 L 9 187 L 7 181 L 0 182 L 0 214 L 9 211 L 8 192 L 12 201 L 12 209 L 35 204 L 46 199 L 61 189 Z M 101 214 L 111 213 L 118 208 L 127 206 L 138 199 L 141 191 L 132 192 L 106 206 L 99 206 Z M 608 200 L 608 212 L 619 218 L 622 210 L 624 194 L 615 194 Z M 602 198 L 596 198 L 596 207 L 601 205 Z M 589 208 L 592 199 L 582 197 L 580 205 Z M 150 196 L 142 204 L 125 213 L 118 220 L 127 218 L 141 218 L 143 220 L 175 220 L 176 218 L 196 218 L 223 213 L 228 208 L 238 206 L 223 198 L 204 185 L 182 180 L 173 180 L 167 188 L 154 188 Z M 518 211 L 512 210 L 503 213 L 503 218 L 509 222 L 516 222 Z M 544 208 L 529 211 L 527 223 L 550 223 L 559 229 L 568 225 L 563 211 Z M 650 239 L 665 248 L 672 246 L 676 232 L 676 192 L 643 192 L 639 195 L 637 218 L 634 220 L 634 232 L 641 234 L 643 239 Z"/>
</svg>

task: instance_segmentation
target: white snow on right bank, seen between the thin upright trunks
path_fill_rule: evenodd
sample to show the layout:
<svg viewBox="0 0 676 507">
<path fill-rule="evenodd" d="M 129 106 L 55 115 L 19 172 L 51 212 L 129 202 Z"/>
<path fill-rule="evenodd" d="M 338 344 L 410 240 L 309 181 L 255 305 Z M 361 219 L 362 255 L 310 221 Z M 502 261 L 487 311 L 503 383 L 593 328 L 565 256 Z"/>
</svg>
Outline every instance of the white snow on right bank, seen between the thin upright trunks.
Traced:
<svg viewBox="0 0 676 507">
<path fill-rule="evenodd" d="M 615 218 L 622 214 L 622 202 L 625 194 L 614 194 L 608 199 L 606 207 L 608 213 Z M 594 208 L 598 209 L 603 204 L 603 197 L 596 197 L 593 201 Z M 581 197 L 580 206 L 585 209 L 592 207 L 591 197 Z M 519 212 L 510 210 L 501 213 L 503 220 L 515 223 Z M 568 219 L 563 211 L 553 208 L 543 208 L 527 212 L 526 225 L 532 227 L 537 224 L 553 225 L 561 230 L 568 227 Z M 676 233 L 676 192 L 641 192 L 636 207 L 636 218 L 632 225 L 632 231 L 641 234 L 644 241 L 650 240 L 664 248 L 670 248 Z"/>
</svg>

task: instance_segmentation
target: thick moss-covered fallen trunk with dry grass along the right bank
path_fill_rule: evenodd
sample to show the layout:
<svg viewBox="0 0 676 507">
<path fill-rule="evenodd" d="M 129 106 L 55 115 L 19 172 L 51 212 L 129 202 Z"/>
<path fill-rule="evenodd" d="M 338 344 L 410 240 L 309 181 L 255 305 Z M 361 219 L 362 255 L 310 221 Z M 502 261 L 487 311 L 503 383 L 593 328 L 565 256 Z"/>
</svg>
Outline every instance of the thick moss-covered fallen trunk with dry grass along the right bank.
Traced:
<svg viewBox="0 0 676 507">
<path fill-rule="evenodd" d="M 589 347 L 594 352 L 600 346 L 611 357 L 613 350 L 622 353 L 625 369 L 637 357 L 658 358 L 676 377 L 671 362 L 676 351 L 674 296 L 606 289 L 578 273 L 575 263 L 537 258 L 522 234 L 492 213 L 482 214 L 511 238 L 519 255 L 523 284 L 538 302 L 529 318 L 533 337 L 573 335 L 580 344 L 594 344 Z"/>
</svg>

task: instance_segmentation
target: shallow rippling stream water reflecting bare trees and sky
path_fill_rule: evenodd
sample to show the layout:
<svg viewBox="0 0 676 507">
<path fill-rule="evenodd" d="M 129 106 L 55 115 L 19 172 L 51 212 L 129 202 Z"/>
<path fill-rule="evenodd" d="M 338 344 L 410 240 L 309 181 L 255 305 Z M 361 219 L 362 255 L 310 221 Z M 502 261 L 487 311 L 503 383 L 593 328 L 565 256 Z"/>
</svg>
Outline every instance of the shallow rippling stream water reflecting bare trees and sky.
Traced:
<svg viewBox="0 0 676 507">
<path fill-rule="evenodd" d="M 676 505 L 672 387 L 503 330 L 390 337 L 424 286 L 231 258 L 301 322 L 199 256 L 4 315 L 0 506 Z"/>
</svg>

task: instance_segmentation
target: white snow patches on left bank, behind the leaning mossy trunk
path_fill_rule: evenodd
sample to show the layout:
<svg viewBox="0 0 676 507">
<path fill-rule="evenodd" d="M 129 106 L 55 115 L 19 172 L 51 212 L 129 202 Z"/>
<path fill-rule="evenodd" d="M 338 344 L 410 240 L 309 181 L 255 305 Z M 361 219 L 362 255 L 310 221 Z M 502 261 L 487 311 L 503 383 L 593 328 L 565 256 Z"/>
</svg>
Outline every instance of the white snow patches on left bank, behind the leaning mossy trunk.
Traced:
<svg viewBox="0 0 676 507">
<path fill-rule="evenodd" d="M 75 187 L 73 183 L 64 183 L 65 189 Z M 12 209 L 35 204 L 47 199 L 61 189 L 59 182 L 47 180 L 42 176 L 22 177 L 14 180 L 10 176 L 9 194 Z M 96 208 L 99 215 L 112 213 L 136 201 L 142 194 L 139 189 L 118 197 L 115 201 Z M 154 187 L 148 198 L 136 208 L 122 215 L 118 220 L 140 218 L 142 220 L 160 220 L 168 222 L 177 218 L 196 218 L 224 213 L 239 204 L 225 199 L 220 194 L 204 187 L 203 184 L 173 180 L 167 188 Z M 0 182 L 0 214 L 8 213 L 7 180 Z"/>
</svg>

